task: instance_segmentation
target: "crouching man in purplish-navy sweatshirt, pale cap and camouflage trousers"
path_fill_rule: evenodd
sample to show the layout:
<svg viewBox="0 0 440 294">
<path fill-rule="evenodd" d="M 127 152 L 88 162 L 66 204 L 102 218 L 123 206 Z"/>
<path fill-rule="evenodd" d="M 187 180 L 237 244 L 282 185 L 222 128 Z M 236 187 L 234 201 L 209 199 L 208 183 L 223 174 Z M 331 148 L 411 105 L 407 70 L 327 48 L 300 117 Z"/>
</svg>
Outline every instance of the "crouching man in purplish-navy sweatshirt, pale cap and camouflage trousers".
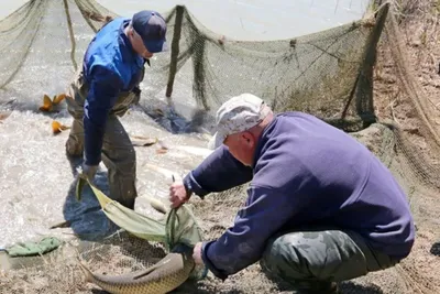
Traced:
<svg viewBox="0 0 440 294">
<path fill-rule="evenodd" d="M 216 150 L 183 183 L 178 207 L 250 183 L 248 199 L 218 239 L 194 258 L 227 279 L 261 261 L 297 293 L 337 293 L 337 283 L 394 266 L 413 248 L 406 195 L 391 172 L 343 131 L 301 112 L 274 115 L 243 94 L 217 112 Z"/>
</svg>

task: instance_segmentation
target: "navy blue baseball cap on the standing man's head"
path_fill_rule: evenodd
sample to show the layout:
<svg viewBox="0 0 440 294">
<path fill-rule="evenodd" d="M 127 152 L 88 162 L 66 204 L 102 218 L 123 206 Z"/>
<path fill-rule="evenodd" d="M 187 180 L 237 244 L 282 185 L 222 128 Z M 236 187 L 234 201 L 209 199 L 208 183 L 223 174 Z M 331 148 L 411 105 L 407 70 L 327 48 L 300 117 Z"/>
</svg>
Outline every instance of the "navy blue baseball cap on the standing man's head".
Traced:
<svg viewBox="0 0 440 294">
<path fill-rule="evenodd" d="M 132 24 L 147 51 L 151 53 L 167 51 L 166 22 L 158 12 L 142 10 L 133 15 Z"/>
</svg>

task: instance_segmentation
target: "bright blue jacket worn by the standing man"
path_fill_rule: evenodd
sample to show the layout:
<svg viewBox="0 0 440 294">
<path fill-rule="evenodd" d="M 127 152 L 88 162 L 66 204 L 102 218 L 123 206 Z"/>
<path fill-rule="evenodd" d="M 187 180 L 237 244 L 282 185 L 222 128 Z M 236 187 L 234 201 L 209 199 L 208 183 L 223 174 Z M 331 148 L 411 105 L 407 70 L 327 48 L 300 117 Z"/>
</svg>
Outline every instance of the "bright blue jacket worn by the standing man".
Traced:
<svg viewBox="0 0 440 294">
<path fill-rule="evenodd" d="M 124 34 L 130 19 L 118 18 L 103 26 L 84 56 L 84 76 L 89 85 L 84 110 L 85 153 L 88 165 L 101 161 L 107 118 L 121 91 L 130 91 L 142 78 L 144 58 Z"/>
</svg>

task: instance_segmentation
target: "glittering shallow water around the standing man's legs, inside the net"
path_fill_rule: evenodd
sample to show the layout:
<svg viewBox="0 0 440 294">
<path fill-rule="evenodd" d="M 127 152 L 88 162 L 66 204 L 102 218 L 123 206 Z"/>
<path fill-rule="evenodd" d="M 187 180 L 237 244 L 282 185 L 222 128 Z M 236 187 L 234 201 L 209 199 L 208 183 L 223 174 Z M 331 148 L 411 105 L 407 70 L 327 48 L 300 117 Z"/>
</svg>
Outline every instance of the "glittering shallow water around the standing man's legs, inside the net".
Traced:
<svg viewBox="0 0 440 294">
<path fill-rule="evenodd" d="M 57 120 L 66 126 L 72 121 L 68 117 Z M 158 138 L 169 148 L 165 154 L 156 153 L 157 145 L 135 148 L 140 195 L 135 209 L 152 214 L 143 196 L 166 198 L 170 175 L 182 177 L 201 161 L 207 155 L 207 139 L 199 134 L 170 134 L 141 111 L 131 111 L 121 121 L 130 135 Z M 51 122 L 44 115 L 13 111 L 0 126 L 0 247 L 47 235 L 63 239 L 69 239 L 73 232 L 96 237 L 113 229 L 88 188 L 84 200 L 76 202 L 75 166 L 64 153 L 68 130 L 53 135 Z M 182 144 L 202 149 L 174 150 Z M 96 184 L 108 193 L 106 172 L 101 163 Z M 72 228 L 50 229 L 63 220 L 70 220 Z"/>
</svg>

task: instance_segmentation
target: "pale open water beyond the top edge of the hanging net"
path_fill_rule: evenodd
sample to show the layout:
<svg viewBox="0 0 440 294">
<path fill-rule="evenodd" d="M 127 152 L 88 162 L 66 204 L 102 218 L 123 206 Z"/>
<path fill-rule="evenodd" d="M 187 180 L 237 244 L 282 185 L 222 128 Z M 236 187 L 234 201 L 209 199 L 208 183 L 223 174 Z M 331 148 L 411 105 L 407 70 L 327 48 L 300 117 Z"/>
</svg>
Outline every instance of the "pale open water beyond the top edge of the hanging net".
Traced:
<svg viewBox="0 0 440 294">
<path fill-rule="evenodd" d="M 2 0 L 0 19 L 25 3 Z M 238 40 L 277 40 L 319 32 L 360 19 L 369 0 L 98 0 L 122 15 L 186 6 L 208 29 Z"/>
</svg>

